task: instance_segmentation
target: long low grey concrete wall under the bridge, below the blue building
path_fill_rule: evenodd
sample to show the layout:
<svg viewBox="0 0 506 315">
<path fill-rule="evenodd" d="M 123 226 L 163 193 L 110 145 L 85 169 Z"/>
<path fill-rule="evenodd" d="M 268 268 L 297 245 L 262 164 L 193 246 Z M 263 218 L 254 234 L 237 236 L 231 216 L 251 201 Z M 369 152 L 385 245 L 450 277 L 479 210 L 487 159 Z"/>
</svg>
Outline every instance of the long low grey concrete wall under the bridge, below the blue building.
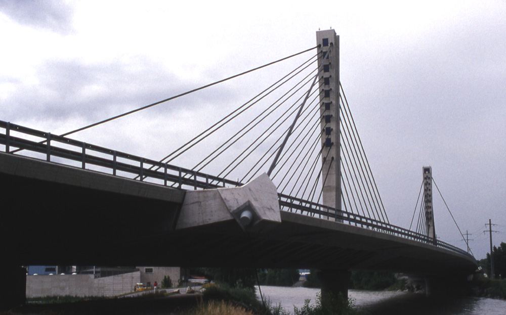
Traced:
<svg viewBox="0 0 506 315">
<path fill-rule="evenodd" d="M 26 297 L 115 296 L 134 291 L 141 273 L 94 279 L 93 275 L 26 276 Z"/>
</svg>

